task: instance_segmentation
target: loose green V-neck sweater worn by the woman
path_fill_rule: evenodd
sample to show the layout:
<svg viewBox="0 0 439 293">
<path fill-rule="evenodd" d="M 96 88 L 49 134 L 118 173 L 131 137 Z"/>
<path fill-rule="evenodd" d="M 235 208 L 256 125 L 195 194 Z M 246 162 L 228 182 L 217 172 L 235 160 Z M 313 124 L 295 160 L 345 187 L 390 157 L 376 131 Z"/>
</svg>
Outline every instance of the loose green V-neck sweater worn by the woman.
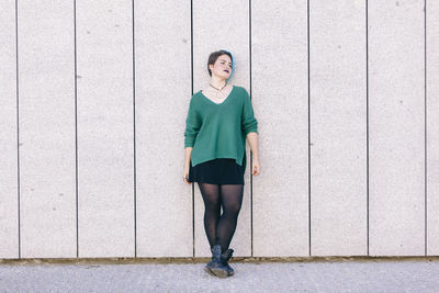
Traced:
<svg viewBox="0 0 439 293">
<path fill-rule="evenodd" d="M 192 166 L 215 158 L 234 158 L 246 170 L 246 137 L 258 133 L 250 95 L 233 86 L 222 103 L 207 99 L 201 90 L 189 103 L 185 120 L 184 148 L 193 147 Z"/>
</svg>

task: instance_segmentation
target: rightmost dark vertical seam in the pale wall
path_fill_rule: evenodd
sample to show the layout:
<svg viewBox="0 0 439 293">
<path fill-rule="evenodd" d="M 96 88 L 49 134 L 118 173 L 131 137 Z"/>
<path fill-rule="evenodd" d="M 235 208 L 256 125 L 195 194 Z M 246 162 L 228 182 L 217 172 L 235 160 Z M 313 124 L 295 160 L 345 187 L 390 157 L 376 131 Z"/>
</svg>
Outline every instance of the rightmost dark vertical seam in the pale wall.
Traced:
<svg viewBox="0 0 439 293">
<path fill-rule="evenodd" d="M 427 0 L 424 0 L 424 253 L 427 256 Z"/>
</svg>

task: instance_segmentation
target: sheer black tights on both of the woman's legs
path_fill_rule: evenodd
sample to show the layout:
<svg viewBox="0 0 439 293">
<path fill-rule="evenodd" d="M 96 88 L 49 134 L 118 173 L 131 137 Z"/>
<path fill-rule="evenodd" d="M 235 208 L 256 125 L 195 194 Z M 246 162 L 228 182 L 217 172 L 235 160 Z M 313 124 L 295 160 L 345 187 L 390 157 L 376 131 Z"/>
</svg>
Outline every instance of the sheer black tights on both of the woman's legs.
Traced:
<svg viewBox="0 0 439 293">
<path fill-rule="evenodd" d="M 204 229 L 211 247 L 221 245 L 226 250 L 235 234 L 243 203 L 243 184 L 199 183 L 204 201 Z M 223 214 L 219 217 L 221 205 Z"/>
</svg>

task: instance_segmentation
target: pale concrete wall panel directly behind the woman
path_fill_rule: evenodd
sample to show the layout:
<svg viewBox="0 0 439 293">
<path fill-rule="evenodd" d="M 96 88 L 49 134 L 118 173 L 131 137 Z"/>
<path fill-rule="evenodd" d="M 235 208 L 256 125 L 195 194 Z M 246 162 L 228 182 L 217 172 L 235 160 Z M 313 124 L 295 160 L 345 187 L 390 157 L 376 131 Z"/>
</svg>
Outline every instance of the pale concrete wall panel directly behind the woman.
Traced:
<svg viewBox="0 0 439 293">
<path fill-rule="evenodd" d="M 207 72 L 209 55 L 218 49 L 229 50 L 237 65 L 234 76 L 228 80 L 232 84 L 244 87 L 249 91 L 250 56 L 249 56 L 249 2 L 239 1 L 193 1 L 193 92 L 209 86 L 211 77 Z M 189 99 L 189 98 L 188 98 Z M 255 116 L 257 113 L 255 113 Z M 241 210 L 230 248 L 234 256 L 251 255 L 250 223 L 250 148 L 246 143 L 247 168 Z M 204 232 L 204 203 L 200 189 L 194 183 L 195 209 L 195 257 L 212 256 Z"/>
</svg>

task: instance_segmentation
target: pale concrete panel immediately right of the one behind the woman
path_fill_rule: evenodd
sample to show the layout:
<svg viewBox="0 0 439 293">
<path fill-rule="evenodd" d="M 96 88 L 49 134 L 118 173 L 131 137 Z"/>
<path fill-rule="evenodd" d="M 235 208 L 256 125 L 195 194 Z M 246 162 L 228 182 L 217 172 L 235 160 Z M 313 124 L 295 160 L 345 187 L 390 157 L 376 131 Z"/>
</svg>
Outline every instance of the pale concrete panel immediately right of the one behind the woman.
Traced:
<svg viewBox="0 0 439 293">
<path fill-rule="evenodd" d="M 254 256 L 308 256 L 306 1 L 252 1 L 251 32 L 261 164 L 252 178 Z"/>
</svg>

